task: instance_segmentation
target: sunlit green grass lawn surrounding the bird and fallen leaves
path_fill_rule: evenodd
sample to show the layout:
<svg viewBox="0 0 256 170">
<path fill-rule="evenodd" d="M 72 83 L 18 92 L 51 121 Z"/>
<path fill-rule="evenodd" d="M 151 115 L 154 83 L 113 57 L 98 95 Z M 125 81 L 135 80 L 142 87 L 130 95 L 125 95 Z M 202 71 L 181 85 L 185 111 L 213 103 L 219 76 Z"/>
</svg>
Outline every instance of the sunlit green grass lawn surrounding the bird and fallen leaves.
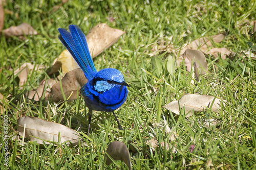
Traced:
<svg viewBox="0 0 256 170">
<path fill-rule="evenodd" d="M 245 56 L 248 41 L 253 39 L 256 4 L 254 1 L 70 1 L 58 9 L 60 1 L 7 1 L 5 9 L 14 14 L 5 14 L 4 28 L 29 23 L 38 33 L 27 36 L 27 40 L 16 37 L 0 37 L 0 92 L 9 100 L 5 107 L 8 115 L 8 166 L 0 156 L 1 169 L 127 169 L 116 161 L 106 166 L 104 152 L 111 141 L 135 145 L 137 152 L 131 153 L 133 169 L 214 169 L 256 168 L 256 60 Z M 18 16 L 18 17 L 16 17 Z M 115 18 L 114 22 L 108 17 Z M 126 33 L 101 55 L 94 58 L 97 70 L 106 67 L 119 69 L 130 84 L 129 95 L 122 107 L 116 111 L 124 131 L 117 131 L 114 116 L 94 112 L 93 132 L 87 137 L 87 114 L 84 102 L 79 98 L 56 107 L 51 101 L 32 102 L 25 92 L 36 88 L 48 78 L 47 71 L 34 70 L 23 88 L 18 86 L 18 77 L 13 70 L 25 62 L 41 64 L 50 68 L 53 60 L 64 50 L 58 40 L 58 28 L 78 25 L 84 33 L 100 22 Z M 193 73 L 187 72 L 184 63 L 170 75 L 165 62 L 174 53 L 157 53 L 163 61 L 163 71 L 152 69 L 150 54 L 161 40 L 165 45 L 180 48 L 203 36 L 226 34 L 215 47 L 228 47 L 236 53 L 230 60 L 207 57 L 209 73 L 200 76 L 197 84 L 191 84 Z M 255 52 L 254 52 L 255 53 Z M 2 69 L 3 68 L 3 69 Z M 12 68 L 12 69 L 10 69 Z M 146 71 L 144 71 L 146 70 Z M 162 81 L 164 78 L 164 81 Z M 178 100 L 185 93 L 217 96 L 227 101 L 219 114 L 206 110 L 185 118 L 161 108 Z M 88 109 L 86 109 L 88 111 Z M 57 113 L 56 115 L 54 113 Z M 16 137 L 17 118 L 32 115 L 61 123 L 78 130 L 82 141 L 78 146 L 43 144 L 25 140 L 24 146 Z M 159 116 L 161 115 L 161 116 Z M 163 125 L 164 115 L 177 140 L 169 141 L 164 128 L 156 126 L 157 119 Z M 62 121 L 61 117 L 63 118 Z M 198 122 L 215 118 L 220 123 L 209 128 Z M 4 124 L 3 124 L 4 125 Z M 1 142 L 3 129 L 1 125 Z M 155 151 L 146 141 L 156 137 L 164 147 Z M 191 145 L 194 151 L 190 152 Z M 4 144 L 0 148 L 4 152 Z M 175 152 L 173 152 L 175 150 Z"/>
</svg>

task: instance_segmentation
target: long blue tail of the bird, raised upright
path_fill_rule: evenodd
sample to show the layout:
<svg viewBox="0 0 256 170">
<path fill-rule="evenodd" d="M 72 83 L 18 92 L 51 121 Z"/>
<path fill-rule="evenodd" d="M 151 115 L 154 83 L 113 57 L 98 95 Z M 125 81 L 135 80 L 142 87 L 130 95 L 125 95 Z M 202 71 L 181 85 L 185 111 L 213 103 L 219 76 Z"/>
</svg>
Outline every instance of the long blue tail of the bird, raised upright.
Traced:
<svg viewBox="0 0 256 170">
<path fill-rule="evenodd" d="M 65 29 L 59 28 L 60 35 L 58 38 L 83 70 L 86 78 L 90 80 L 96 75 L 97 71 L 90 55 L 86 36 L 76 25 L 70 25 L 69 30 L 70 33 Z"/>
</svg>

